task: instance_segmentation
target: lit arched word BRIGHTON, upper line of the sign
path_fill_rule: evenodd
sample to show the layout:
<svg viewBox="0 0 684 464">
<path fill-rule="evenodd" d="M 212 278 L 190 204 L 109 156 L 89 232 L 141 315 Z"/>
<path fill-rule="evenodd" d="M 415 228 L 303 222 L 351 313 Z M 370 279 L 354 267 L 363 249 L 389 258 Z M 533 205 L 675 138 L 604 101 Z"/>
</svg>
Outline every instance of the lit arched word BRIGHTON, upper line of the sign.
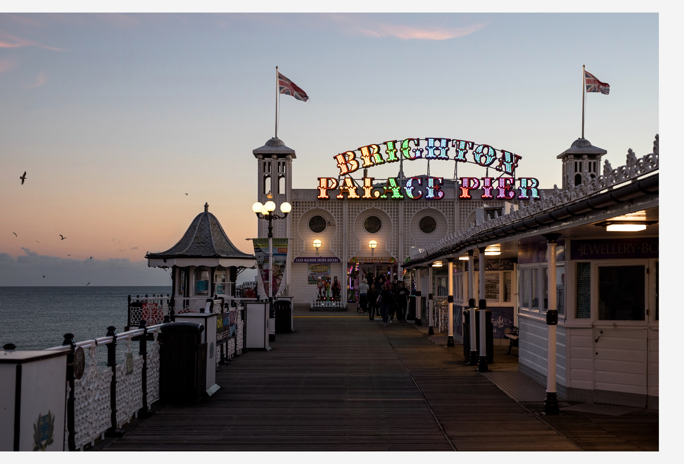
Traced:
<svg viewBox="0 0 684 464">
<path fill-rule="evenodd" d="M 425 150 L 421 148 L 421 140 L 425 142 Z M 386 158 L 382 157 L 383 150 L 380 148 L 380 145 L 384 145 Z M 453 148 L 453 157 L 449 154 L 451 148 Z M 358 155 L 356 154 L 357 151 Z M 469 161 L 466 157 L 469 151 L 472 152 L 473 161 Z M 397 161 L 402 161 L 402 159 L 442 161 L 453 159 L 458 163 L 475 163 L 483 167 L 490 167 L 495 161 L 499 161 L 494 166 L 494 169 L 503 174 L 513 176 L 515 168 L 518 167 L 518 161 L 522 159 L 522 156 L 507 150 L 495 150 L 492 146 L 485 144 L 477 145 L 467 140 L 428 137 L 427 139 L 390 140 L 382 142 L 382 144 L 371 144 L 356 150 L 336 154 L 332 158 L 337 161 L 340 176 L 352 174 L 352 172 L 356 172 L 360 168 L 367 169 L 372 166 L 383 165 L 384 163 L 396 163 Z"/>
</svg>

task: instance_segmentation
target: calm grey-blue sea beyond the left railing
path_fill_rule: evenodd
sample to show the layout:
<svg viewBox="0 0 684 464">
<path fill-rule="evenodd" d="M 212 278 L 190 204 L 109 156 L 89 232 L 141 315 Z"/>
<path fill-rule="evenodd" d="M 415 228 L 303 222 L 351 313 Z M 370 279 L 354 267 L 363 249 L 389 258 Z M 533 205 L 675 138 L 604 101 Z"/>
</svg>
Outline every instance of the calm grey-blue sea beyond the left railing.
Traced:
<svg viewBox="0 0 684 464">
<path fill-rule="evenodd" d="M 73 333 L 77 342 L 103 337 L 110 325 L 120 333 L 128 320 L 129 295 L 170 292 L 171 286 L 0 287 L 0 346 L 11 342 L 18 350 L 46 349 L 61 345 L 65 333 Z M 123 346 L 118 343 L 117 362 Z M 107 349 L 98 348 L 98 365 L 106 359 Z"/>
</svg>

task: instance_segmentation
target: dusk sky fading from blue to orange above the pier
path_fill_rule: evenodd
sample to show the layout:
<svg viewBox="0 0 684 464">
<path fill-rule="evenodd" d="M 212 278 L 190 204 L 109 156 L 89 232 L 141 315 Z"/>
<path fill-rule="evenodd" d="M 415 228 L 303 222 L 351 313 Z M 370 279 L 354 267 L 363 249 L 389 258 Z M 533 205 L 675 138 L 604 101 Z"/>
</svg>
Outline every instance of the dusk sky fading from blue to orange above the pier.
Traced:
<svg viewBox="0 0 684 464">
<path fill-rule="evenodd" d="M 610 84 L 587 96 L 586 138 L 613 167 L 652 151 L 658 36 L 657 14 L 1 14 L 0 286 L 168 284 L 144 255 L 205 202 L 251 253 L 275 66 L 311 97 L 280 99 L 295 188 L 408 137 L 514 152 L 518 176 L 553 188 L 581 135 L 582 65 Z"/>
</svg>

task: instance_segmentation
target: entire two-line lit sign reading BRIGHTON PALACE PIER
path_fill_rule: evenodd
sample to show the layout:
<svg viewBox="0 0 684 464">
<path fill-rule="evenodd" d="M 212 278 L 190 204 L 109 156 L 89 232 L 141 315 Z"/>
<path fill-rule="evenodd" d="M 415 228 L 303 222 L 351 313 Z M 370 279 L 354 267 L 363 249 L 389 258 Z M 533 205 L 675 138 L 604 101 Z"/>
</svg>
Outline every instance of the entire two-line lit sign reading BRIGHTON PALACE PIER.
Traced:
<svg viewBox="0 0 684 464">
<path fill-rule="evenodd" d="M 421 141 L 423 146 L 421 146 Z M 381 145 L 384 150 L 380 148 Z M 449 153 L 450 150 L 451 153 Z M 472 160 L 469 159 L 469 153 Z M 393 177 L 387 179 L 386 184 L 378 188 L 377 185 L 373 185 L 373 180 L 375 180 L 373 177 L 364 176 L 360 182 L 357 182 L 350 176 L 358 169 L 415 159 L 474 163 L 482 167 L 493 167 L 496 171 L 501 172 L 501 176 L 498 178 L 460 178 L 459 198 L 472 198 L 471 190 L 479 189 L 482 190 L 480 197 L 484 199 L 512 200 L 517 197 L 521 200 L 529 200 L 529 198 L 539 197 L 539 181 L 536 178 L 520 177 L 516 179 L 515 177 L 515 169 L 518 167 L 518 161 L 522 159 L 522 156 L 507 150 L 495 150 L 489 145 L 477 145 L 466 140 L 438 138 L 390 140 L 382 142 L 382 144 L 371 144 L 357 150 L 340 153 L 333 156 L 333 159 L 337 161 L 340 178 L 318 178 L 319 200 L 330 200 L 330 193 L 328 192 L 334 190 L 339 190 L 337 195 L 334 192 L 332 195 L 340 200 L 345 197 L 345 194 L 350 200 L 441 200 L 444 197 L 443 177 L 407 177 L 404 178 L 404 182 L 401 178 Z M 508 177 L 504 177 L 506 175 Z M 516 181 L 520 182 L 517 189 Z"/>
</svg>

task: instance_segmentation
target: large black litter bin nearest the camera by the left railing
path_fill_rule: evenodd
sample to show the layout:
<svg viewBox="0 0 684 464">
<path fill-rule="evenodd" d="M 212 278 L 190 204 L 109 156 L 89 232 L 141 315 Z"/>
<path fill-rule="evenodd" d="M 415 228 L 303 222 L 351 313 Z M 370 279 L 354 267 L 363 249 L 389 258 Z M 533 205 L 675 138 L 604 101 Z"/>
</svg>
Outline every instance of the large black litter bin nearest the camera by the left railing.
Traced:
<svg viewBox="0 0 684 464">
<path fill-rule="evenodd" d="M 161 326 L 159 399 L 163 404 L 194 403 L 207 391 L 205 326 L 190 322 Z"/>
</svg>

